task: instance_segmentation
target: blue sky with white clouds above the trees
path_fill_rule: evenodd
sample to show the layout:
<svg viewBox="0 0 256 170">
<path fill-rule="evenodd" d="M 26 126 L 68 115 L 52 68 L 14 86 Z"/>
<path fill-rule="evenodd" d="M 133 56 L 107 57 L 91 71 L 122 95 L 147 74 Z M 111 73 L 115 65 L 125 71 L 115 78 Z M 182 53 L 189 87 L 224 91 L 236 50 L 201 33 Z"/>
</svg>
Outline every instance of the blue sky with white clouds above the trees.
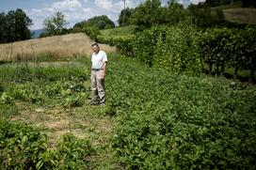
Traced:
<svg viewBox="0 0 256 170">
<path fill-rule="evenodd" d="M 198 4 L 200 1 L 204 0 L 177 0 L 184 7 L 191 3 Z M 145 0 L 126 0 L 125 2 L 126 8 L 136 8 Z M 168 0 L 161 0 L 161 2 L 162 6 L 166 6 Z M 7 14 L 9 10 L 22 8 L 33 22 L 29 27 L 31 30 L 42 29 L 43 21 L 54 16 L 56 11 L 64 14 L 67 27 L 101 15 L 106 15 L 117 24 L 123 7 L 123 0 L 0 0 L 0 12 Z"/>
</svg>

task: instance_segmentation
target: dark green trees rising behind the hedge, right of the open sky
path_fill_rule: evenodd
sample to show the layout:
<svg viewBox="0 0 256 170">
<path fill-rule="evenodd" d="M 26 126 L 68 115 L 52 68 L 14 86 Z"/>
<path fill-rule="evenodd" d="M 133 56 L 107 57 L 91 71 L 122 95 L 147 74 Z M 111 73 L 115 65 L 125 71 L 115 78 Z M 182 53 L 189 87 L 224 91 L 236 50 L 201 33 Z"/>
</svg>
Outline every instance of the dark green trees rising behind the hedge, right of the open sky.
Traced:
<svg viewBox="0 0 256 170">
<path fill-rule="evenodd" d="M 155 25 L 177 25 L 181 22 L 195 24 L 200 28 L 216 26 L 243 26 L 225 20 L 220 8 L 213 8 L 225 4 L 237 4 L 240 7 L 253 7 L 255 0 L 206 0 L 199 5 L 190 4 L 187 8 L 175 0 L 168 1 L 167 6 L 161 6 L 160 0 L 146 0 L 136 8 L 124 8 L 120 11 L 119 25 L 137 25 L 141 30 Z M 254 6 L 255 7 L 255 6 Z"/>
</svg>

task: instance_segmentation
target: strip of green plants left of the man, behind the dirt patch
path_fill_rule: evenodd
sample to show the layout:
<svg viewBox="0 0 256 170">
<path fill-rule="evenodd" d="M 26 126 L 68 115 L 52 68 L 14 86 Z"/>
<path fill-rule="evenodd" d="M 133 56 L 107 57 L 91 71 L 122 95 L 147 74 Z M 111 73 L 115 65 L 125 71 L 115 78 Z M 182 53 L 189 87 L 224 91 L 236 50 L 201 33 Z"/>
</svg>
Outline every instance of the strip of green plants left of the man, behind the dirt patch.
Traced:
<svg viewBox="0 0 256 170">
<path fill-rule="evenodd" d="M 4 70 L 4 68 L 1 68 Z M 83 85 L 88 73 L 79 67 L 13 68 L 3 71 L 0 103 L 22 100 L 35 104 L 61 104 L 64 107 L 81 106 L 89 95 Z"/>
</svg>

